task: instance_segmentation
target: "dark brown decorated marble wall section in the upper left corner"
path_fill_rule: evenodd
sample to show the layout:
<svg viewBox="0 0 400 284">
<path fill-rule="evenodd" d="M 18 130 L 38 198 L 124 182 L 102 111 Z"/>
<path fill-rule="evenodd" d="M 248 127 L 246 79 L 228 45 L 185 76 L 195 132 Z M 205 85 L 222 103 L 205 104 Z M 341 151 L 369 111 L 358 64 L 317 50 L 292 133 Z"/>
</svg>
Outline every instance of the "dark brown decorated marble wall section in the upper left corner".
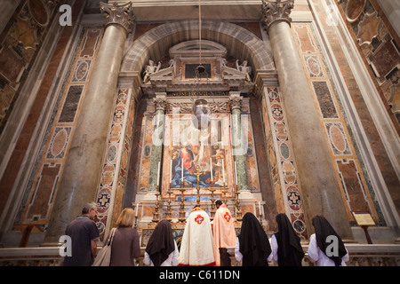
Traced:
<svg viewBox="0 0 400 284">
<path fill-rule="evenodd" d="M 51 2 L 20 1 L 0 35 L 0 134 L 56 12 Z"/>
</svg>

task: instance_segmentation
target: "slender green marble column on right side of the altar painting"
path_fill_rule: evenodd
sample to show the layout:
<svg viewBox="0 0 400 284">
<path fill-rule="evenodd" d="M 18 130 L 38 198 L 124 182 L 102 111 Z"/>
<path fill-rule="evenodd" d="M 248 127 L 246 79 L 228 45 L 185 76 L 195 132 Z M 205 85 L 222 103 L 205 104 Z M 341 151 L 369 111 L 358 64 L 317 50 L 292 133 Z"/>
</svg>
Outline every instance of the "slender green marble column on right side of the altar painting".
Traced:
<svg viewBox="0 0 400 284">
<path fill-rule="evenodd" d="M 236 177 L 239 191 L 248 191 L 249 183 L 247 180 L 247 141 L 242 130 L 242 97 L 239 92 L 229 93 L 229 106 L 231 111 L 231 142 L 232 154 L 236 163 Z"/>
</svg>

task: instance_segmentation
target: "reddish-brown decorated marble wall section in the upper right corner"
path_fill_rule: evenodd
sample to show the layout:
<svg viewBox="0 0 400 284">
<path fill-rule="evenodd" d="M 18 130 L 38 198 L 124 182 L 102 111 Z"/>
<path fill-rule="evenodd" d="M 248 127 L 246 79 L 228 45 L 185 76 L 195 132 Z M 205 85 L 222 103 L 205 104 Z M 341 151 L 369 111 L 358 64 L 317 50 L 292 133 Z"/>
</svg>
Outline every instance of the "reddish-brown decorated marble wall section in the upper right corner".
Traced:
<svg viewBox="0 0 400 284">
<path fill-rule="evenodd" d="M 400 122 L 400 94 L 391 88 L 400 85 L 399 36 L 376 0 L 343 0 L 338 6 L 365 65 L 376 80 L 380 98 L 390 107 L 389 115 L 395 123 Z"/>
</svg>

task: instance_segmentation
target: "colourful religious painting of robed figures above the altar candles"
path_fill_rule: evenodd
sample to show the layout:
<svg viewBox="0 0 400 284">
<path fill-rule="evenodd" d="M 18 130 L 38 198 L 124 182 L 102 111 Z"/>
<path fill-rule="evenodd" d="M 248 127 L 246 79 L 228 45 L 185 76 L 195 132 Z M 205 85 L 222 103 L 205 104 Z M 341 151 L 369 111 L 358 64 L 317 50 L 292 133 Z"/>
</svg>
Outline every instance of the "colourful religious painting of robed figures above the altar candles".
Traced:
<svg viewBox="0 0 400 284">
<path fill-rule="evenodd" d="M 213 119 L 205 130 L 193 127 L 190 118 L 180 119 L 172 125 L 179 125 L 179 132 L 172 129 L 171 187 L 211 189 L 226 186 L 227 154 L 222 135 L 223 120 Z"/>
</svg>

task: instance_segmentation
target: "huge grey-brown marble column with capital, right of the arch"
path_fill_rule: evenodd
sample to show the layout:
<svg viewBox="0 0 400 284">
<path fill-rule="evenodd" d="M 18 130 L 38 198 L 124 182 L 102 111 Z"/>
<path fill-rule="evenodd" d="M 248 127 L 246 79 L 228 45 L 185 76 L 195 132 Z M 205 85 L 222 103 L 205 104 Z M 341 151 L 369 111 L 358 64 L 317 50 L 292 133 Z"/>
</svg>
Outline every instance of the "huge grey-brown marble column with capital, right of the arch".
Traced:
<svg viewBox="0 0 400 284">
<path fill-rule="evenodd" d="M 343 239 L 353 240 L 331 154 L 291 29 L 294 0 L 263 0 L 261 21 L 271 43 L 285 118 L 297 164 L 302 204 L 311 218 L 324 215 Z"/>
</svg>

